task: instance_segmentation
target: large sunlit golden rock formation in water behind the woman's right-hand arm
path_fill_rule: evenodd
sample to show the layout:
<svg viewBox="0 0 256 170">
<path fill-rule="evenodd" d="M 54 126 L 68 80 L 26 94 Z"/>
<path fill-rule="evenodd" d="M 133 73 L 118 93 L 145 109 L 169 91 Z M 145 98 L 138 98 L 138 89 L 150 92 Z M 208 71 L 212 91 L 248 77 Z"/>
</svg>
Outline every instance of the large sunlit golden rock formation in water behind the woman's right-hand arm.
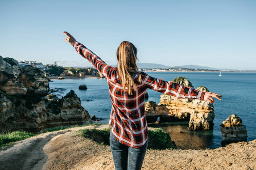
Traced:
<svg viewBox="0 0 256 170">
<path fill-rule="evenodd" d="M 193 87 L 188 79 L 179 77 L 172 80 L 185 87 Z M 199 91 L 208 91 L 207 88 L 197 87 Z M 213 104 L 197 99 L 179 99 L 177 97 L 162 94 L 160 103 L 154 101 L 145 103 L 145 113 L 148 122 L 155 122 L 157 117 L 161 121 L 189 121 L 189 130 L 213 129 Z"/>
</svg>

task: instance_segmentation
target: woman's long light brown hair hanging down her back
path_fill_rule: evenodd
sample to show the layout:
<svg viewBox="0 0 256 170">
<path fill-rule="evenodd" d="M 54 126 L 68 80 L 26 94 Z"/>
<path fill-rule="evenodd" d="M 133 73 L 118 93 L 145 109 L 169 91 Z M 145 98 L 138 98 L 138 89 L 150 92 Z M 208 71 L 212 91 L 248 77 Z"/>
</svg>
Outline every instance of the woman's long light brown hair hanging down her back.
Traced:
<svg viewBox="0 0 256 170">
<path fill-rule="evenodd" d="M 128 89 L 128 94 L 133 95 L 131 87 L 136 91 L 133 77 L 137 74 L 138 80 L 141 82 L 141 75 L 138 73 L 136 65 L 137 48 L 129 41 L 123 41 L 117 49 L 118 72 L 123 85 L 123 91 L 126 92 L 125 87 Z"/>
</svg>

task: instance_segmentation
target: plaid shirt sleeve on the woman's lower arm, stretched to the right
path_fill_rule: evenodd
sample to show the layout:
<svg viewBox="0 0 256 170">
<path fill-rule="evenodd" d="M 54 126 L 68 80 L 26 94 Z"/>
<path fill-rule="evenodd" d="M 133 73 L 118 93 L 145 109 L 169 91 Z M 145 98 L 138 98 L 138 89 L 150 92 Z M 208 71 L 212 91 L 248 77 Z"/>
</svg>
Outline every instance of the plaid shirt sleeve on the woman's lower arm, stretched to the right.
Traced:
<svg viewBox="0 0 256 170">
<path fill-rule="evenodd" d="M 146 73 L 143 74 L 143 83 L 147 88 L 183 99 L 192 98 L 204 100 L 205 92 L 198 91 L 193 87 L 184 87 L 181 84 L 153 78 Z"/>
</svg>

